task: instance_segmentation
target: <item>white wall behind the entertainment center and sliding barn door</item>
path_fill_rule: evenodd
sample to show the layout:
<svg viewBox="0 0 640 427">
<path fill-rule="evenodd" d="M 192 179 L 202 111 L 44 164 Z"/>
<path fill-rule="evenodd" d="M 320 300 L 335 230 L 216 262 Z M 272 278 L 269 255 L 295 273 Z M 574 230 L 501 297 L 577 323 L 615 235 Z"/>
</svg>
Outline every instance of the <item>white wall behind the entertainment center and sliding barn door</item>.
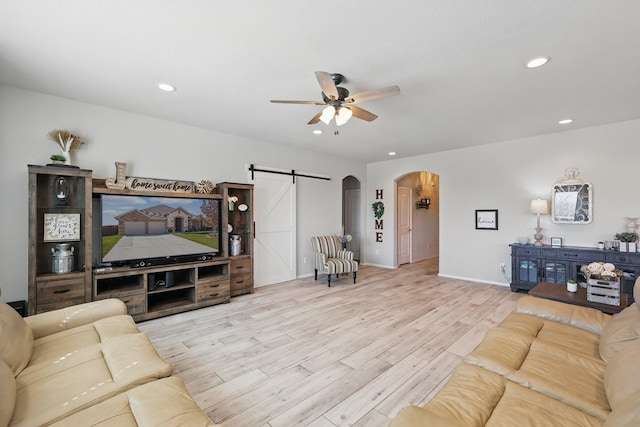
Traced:
<svg viewBox="0 0 640 427">
<path fill-rule="evenodd" d="M 27 299 L 27 164 L 49 163 L 58 152 L 47 139 L 52 129 L 67 129 L 86 141 L 72 159 L 96 178 L 114 177 L 115 161 L 128 164 L 129 176 L 187 181 L 248 182 L 245 168 L 251 163 L 331 176 L 331 181 L 296 179 L 299 276 L 313 272 L 310 237 L 341 228 L 342 178 L 365 176 L 364 163 L 0 85 L 4 301 Z"/>
</svg>

